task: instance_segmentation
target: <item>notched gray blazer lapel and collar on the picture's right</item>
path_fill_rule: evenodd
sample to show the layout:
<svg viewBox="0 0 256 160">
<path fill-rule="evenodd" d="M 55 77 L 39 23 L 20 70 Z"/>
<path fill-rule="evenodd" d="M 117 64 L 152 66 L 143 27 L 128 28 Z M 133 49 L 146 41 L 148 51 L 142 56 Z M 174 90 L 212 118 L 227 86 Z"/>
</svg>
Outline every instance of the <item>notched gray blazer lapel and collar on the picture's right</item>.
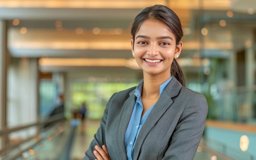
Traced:
<svg viewBox="0 0 256 160">
<path fill-rule="evenodd" d="M 137 137 L 137 140 L 135 142 L 135 147 L 134 147 L 134 153 L 133 153 L 134 160 L 138 159 L 139 151 L 141 149 L 141 146 L 148 132 L 154 127 L 154 125 L 162 117 L 165 111 L 169 107 L 171 107 L 171 104 L 173 104 L 173 100 L 171 98 L 177 96 L 181 88 L 182 88 L 182 84 L 180 84 L 180 82 L 177 81 L 177 79 L 174 77 L 169 82 L 169 84 L 167 84 L 166 89 L 162 92 L 161 96 L 159 97 L 159 100 L 156 102 L 154 108 L 149 113 L 148 118 L 144 122 L 139 132 L 139 135 Z"/>
</svg>

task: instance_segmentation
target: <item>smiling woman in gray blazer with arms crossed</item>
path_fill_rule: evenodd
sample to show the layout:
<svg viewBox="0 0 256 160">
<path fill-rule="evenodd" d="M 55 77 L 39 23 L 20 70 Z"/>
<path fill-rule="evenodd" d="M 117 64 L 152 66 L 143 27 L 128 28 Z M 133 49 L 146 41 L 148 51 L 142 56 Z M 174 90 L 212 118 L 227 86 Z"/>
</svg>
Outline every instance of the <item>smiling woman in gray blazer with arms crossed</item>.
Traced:
<svg viewBox="0 0 256 160">
<path fill-rule="evenodd" d="M 112 95 L 84 160 L 193 160 L 208 112 L 187 89 L 176 59 L 182 26 L 168 7 L 147 7 L 131 29 L 132 55 L 143 70 L 137 87 Z"/>
</svg>

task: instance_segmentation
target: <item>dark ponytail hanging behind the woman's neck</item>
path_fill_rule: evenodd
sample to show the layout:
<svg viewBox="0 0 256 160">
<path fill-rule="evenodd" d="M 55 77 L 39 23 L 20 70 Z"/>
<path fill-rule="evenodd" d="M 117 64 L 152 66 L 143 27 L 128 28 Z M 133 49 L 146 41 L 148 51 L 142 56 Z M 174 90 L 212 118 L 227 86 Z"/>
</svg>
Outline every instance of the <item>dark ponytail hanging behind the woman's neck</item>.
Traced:
<svg viewBox="0 0 256 160">
<path fill-rule="evenodd" d="M 176 59 L 173 59 L 173 63 L 171 64 L 171 75 L 174 76 L 182 84 L 182 86 L 186 86 L 182 69 L 180 68 L 180 65 L 177 63 Z"/>
</svg>

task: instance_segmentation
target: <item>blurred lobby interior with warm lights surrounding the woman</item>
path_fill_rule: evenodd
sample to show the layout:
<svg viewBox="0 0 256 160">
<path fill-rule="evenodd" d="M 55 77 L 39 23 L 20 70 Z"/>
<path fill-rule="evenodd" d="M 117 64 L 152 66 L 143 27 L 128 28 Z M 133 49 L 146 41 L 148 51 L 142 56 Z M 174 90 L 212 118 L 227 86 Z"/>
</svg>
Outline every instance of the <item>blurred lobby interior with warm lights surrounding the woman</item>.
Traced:
<svg viewBox="0 0 256 160">
<path fill-rule="evenodd" d="M 178 62 L 209 104 L 194 159 L 256 160 L 255 0 L 0 0 L 0 159 L 83 158 L 110 96 L 142 78 L 130 27 L 154 4 L 180 17 Z"/>
</svg>

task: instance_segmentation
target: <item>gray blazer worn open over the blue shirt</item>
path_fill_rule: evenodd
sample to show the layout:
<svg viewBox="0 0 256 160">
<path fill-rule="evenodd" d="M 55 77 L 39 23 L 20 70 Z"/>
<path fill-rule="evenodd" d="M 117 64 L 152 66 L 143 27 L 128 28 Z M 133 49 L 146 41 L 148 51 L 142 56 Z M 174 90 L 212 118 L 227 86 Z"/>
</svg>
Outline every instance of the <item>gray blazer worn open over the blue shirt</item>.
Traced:
<svg viewBox="0 0 256 160">
<path fill-rule="evenodd" d="M 125 132 L 135 105 L 136 87 L 109 99 L 100 127 L 83 160 L 94 160 L 94 146 L 106 144 L 111 160 L 127 160 Z M 177 81 L 167 84 L 135 142 L 133 160 L 193 160 L 208 113 L 206 98 Z"/>
</svg>

